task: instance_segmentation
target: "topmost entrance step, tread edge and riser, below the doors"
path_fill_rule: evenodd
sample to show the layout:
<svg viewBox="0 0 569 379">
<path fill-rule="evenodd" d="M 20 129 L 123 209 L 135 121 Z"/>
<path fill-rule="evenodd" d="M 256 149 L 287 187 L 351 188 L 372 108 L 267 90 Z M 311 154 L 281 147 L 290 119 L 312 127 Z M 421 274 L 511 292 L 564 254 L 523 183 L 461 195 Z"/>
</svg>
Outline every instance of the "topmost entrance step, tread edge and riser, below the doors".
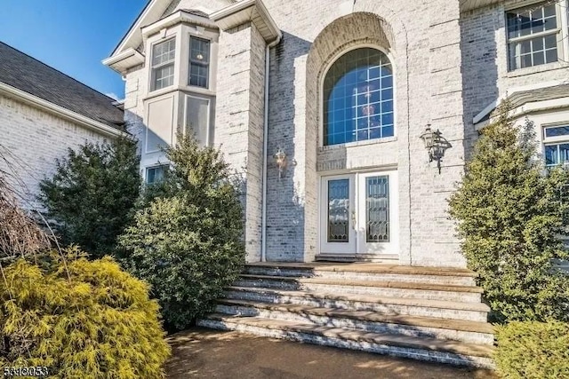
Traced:
<svg viewBox="0 0 569 379">
<path fill-rule="evenodd" d="M 378 264 L 255 263 L 245 265 L 244 273 L 343 280 L 395 280 L 454 286 L 476 286 L 477 278 L 475 272 L 467 269 Z"/>
</svg>

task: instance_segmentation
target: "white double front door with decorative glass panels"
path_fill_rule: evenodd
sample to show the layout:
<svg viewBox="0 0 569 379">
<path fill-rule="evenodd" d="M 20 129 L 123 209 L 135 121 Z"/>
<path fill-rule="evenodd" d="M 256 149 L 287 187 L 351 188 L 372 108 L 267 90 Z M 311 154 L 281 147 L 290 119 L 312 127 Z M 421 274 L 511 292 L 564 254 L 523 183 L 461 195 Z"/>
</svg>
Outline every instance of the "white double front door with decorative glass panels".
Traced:
<svg viewBox="0 0 569 379">
<path fill-rule="evenodd" d="M 397 171 L 323 177 L 323 254 L 398 254 Z"/>
</svg>

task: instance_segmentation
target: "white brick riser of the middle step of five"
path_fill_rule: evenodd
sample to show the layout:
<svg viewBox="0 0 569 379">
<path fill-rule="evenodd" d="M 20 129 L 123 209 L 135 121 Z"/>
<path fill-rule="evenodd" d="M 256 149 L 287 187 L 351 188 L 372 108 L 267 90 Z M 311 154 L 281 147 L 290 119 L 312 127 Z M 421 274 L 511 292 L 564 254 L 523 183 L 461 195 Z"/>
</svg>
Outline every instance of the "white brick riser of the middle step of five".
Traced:
<svg viewBox="0 0 569 379">
<path fill-rule="evenodd" d="M 260 292 L 249 291 L 233 291 L 228 290 L 226 296 L 229 299 L 236 300 L 252 300 L 262 303 L 271 304 L 300 304 L 310 305 L 318 308 L 339 308 L 351 311 L 370 311 L 380 312 L 386 315 L 408 315 L 408 316 L 424 316 L 436 317 L 439 319 L 452 320 L 469 320 L 483 321 L 487 319 L 486 312 L 453 310 L 442 308 L 431 308 L 426 306 L 400 305 L 400 304 L 381 304 L 381 303 L 365 303 L 351 300 L 334 300 L 323 299 L 307 296 L 287 296 L 264 294 Z"/>
</svg>

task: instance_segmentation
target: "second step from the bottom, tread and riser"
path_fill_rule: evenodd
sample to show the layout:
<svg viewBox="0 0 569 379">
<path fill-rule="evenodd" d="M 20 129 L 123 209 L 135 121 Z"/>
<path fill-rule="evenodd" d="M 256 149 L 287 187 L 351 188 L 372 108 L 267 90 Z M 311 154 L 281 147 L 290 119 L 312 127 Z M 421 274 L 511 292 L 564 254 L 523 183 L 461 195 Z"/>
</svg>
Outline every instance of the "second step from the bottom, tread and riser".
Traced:
<svg viewBox="0 0 569 379">
<path fill-rule="evenodd" d="M 493 326 L 478 321 L 384 315 L 370 311 L 228 299 L 218 301 L 216 312 L 268 320 L 294 321 L 315 326 L 365 330 L 373 333 L 437 338 L 465 343 L 491 345 L 494 343 Z"/>
</svg>

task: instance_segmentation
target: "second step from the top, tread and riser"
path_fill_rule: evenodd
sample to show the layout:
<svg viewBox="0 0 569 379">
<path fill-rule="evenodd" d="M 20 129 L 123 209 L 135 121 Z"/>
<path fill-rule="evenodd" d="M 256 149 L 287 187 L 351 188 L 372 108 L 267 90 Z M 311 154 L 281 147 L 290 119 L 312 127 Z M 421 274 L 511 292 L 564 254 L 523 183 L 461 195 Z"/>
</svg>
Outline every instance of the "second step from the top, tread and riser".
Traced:
<svg viewBox="0 0 569 379">
<path fill-rule="evenodd" d="M 329 278 L 297 278 L 243 274 L 236 281 L 239 287 L 262 287 L 309 290 L 334 294 L 369 294 L 389 297 L 410 297 L 431 300 L 480 303 L 482 288 L 406 281 L 345 280 Z"/>
</svg>

